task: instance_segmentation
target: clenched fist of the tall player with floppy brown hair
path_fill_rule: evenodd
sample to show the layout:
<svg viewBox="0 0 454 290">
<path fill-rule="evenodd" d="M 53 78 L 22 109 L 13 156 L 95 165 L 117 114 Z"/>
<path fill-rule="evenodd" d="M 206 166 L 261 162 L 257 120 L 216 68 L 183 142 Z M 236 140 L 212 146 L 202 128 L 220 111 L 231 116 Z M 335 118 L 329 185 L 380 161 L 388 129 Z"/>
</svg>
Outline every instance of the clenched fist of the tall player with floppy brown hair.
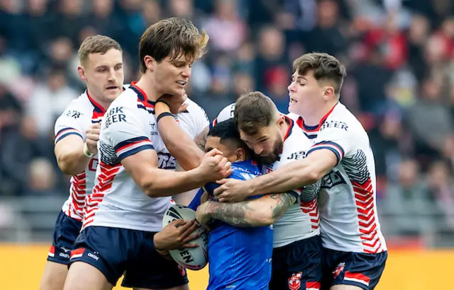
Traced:
<svg viewBox="0 0 454 290">
<path fill-rule="evenodd" d="M 199 172 L 206 182 L 214 182 L 231 175 L 232 163 L 222 156 L 222 152 L 213 149 L 205 154 L 199 166 Z"/>
</svg>

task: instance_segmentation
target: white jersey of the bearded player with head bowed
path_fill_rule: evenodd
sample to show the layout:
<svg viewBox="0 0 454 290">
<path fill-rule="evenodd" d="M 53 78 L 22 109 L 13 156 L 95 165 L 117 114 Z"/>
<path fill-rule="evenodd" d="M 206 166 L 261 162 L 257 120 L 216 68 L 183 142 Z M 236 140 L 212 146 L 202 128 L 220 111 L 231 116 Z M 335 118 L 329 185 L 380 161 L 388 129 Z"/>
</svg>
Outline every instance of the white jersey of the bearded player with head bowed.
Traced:
<svg viewBox="0 0 454 290">
<path fill-rule="evenodd" d="M 311 148 L 312 142 L 304 136 L 304 132 L 294 126 L 294 121 L 286 116 L 290 126 L 284 137 L 284 145 L 279 158 L 271 166 L 263 166 L 262 173 L 270 173 L 284 164 L 306 157 L 306 153 Z M 291 193 L 297 197 L 297 201 L 287 209 L 285 214 L 273 225 L 274 240 L 273 247 L 282 247 L 297 240 L 311 238 L 319 235 L 320 219 L 317 199 L 312 202 L 301 201 L 300 195 L 306 190 L 318 192 L 320 182 L 308 185 L 302 190 L 293 190 Z"/>
</svg>

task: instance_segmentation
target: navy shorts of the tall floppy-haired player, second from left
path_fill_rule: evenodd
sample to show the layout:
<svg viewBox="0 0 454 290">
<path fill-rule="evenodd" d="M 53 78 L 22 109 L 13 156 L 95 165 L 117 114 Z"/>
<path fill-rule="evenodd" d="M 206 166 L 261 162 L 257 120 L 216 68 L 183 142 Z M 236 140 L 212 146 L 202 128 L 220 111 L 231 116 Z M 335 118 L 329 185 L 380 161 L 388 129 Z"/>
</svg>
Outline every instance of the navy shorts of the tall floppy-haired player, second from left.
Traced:
<svg viewBox="0 0 454 290">
<path fill-rule="evenodd" d="M 188 283 L 186 271 L 157 253 L 155 233 L 126 228 L 89 226 L 77 237 L 73 262 L 99 269 L 112 285 L 124 274 L 123 287 L 165 289 Z"/>
</svg>

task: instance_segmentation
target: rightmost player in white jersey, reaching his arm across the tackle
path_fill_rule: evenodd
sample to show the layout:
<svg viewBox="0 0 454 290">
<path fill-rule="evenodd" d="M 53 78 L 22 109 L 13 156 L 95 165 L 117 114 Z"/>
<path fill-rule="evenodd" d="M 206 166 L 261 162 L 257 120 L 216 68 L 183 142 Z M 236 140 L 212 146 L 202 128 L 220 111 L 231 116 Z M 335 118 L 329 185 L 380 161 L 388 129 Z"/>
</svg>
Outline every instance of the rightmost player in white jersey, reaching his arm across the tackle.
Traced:
<svg viewBox="0 0 454 290">
<path fill-rule="evenodd" d="M 285 192 L 322 178 L 319 194 L 324 250 L 323 288 L 374 289 L 387 260 L 377 216 L 375 161 L 369 137 L 339 102 L 345 68 L 328 54 L 304 54 L 294 61 L 289 110 L 313 140 L 306 158 L 247 182 L 224 180 L 221 202 Z M 326 280 L 325 280 L 326 279 Z"/>
</svg>

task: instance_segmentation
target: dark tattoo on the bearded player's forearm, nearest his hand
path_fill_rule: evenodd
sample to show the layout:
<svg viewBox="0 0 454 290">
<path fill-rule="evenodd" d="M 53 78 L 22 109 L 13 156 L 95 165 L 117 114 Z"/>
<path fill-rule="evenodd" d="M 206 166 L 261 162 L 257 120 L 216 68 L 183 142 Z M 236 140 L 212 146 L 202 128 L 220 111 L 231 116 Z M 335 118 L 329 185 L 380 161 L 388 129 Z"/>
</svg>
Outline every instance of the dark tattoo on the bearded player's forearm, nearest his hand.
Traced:
<svg viewBox="0 0 454 290">
<path fill-rule="evenodd" d="M 254 210 L 251 207 L 249 207 L 249 201 L 237 202 L 233 204 L 211 202 L 209 204 L 209 207 L 211 207 L 210 211 L 213 213 L 211 214 L 211 216 L 214 219 L 224 221 L 227 224 L 231 224 L 232 226 L 239 227 L 253 226 L 252 224 L 250 224 L 250 221 L 248 221 L 245 218 L 247 211 Z"/>
</svg>

